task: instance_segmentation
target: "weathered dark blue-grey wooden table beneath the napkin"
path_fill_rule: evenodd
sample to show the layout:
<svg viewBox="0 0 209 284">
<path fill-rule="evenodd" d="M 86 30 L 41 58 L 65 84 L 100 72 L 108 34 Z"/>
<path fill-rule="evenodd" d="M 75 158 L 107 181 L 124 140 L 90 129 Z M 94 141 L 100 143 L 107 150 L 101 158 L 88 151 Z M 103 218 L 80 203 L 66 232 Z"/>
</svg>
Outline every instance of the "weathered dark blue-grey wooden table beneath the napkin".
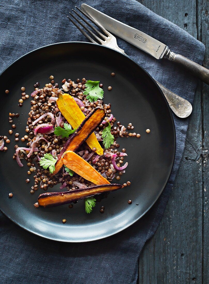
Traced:
<svg viewBox="0 0 209 284">
<path fill-rule="evenodd" d="M 209 0 L 138 1 L 202 41 L 209 68 Z M 173 192 L 139 257 L 140 284 L 209 283 L 208 130 L 209 86 L 199 83 Z"/>
</svg>

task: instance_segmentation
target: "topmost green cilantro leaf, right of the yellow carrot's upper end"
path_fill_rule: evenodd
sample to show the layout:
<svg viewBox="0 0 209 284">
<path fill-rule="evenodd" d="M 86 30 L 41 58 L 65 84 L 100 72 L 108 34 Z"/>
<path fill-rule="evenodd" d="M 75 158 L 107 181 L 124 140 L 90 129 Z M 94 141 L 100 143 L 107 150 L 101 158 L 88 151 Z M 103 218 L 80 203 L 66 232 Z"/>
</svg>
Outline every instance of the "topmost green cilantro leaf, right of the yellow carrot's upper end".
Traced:
<svg viewBox="0 0 209 284">
<path fill-rule="evenodd" d="M 98 99 L 103 99 L 104 91 L 99 86 L 100 81 L 87 80 L 85 83 L 84 95 L 87 95 L 86 99 L 92 103 Z"/>
</svg>

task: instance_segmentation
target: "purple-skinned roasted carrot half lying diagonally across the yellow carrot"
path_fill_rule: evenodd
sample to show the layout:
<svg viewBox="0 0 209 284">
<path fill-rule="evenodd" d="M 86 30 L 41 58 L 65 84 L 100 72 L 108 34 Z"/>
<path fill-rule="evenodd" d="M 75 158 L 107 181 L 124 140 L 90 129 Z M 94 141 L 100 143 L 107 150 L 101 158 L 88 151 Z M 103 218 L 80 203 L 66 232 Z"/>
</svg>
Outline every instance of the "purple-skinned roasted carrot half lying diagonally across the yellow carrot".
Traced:
<svg viewBox="0 0 209 284">
<path fill-rule="evenodd" d="M 76 131 L 70 136 L 70 138 L 65 143 L 61 153 L 58 156 L 57 162 L 55 164 L 55 171 L 52 176 L 57 174 L 61 167 L 63 166 L 63 162 L 61 160 L 61 156 L 65 151 L 71 150 L 75 151 L 86 141 L 89 135 L 94 131 L 94 129 L 100 124 L 100 122 L 105 117 L 105 110 L 103 108 L 94 108 L 82 121 L 80 126 L 76 129 Z"/>
</svg>

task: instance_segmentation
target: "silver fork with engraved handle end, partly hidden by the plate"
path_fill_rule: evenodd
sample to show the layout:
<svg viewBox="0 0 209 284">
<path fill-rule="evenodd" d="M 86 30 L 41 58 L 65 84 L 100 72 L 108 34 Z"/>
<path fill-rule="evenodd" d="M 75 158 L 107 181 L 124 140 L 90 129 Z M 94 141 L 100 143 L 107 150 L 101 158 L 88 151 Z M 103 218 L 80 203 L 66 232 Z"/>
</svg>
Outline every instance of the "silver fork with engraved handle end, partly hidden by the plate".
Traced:
<svg viewBox="0 0 209 284">
<path fill-rule="evenodd" d="M 92 30 L 94 30 L 94 32 L 96 34 L 94 34 L 89 28 L 87 28 L 78 18 L 76 18 L 76 16 L 74 16 L 71 12 L 69 12 L 69 14 L 71 15 L 71 17 L 76 20 L 76 22 L 78 24 L 80 24 L 87 32 L 89 32 L 92 37 L 95 38 L 95 40 L 90 37 L 82 28 L 80 28 L 80 26 L 78 26 L 78 24 L 69 16 L 67 16 L 67 18 L 74 24 L 74 26 L 76 26 L 76 28 L 78 28 L 78 30 L 80 30 L 80 32 L 82 32 L 82 34 L 84 34 L 84 36 L 87 37 L 87 39 L 89 39 L 92 43 L 96 43 L 96 44 L 101 44 L 107 47 L 110 47 L 112 49 L 115 49 L 121 53 L 123 53 L 124 55 L 127 56 L 127 54 L 124 52 L 123 49 L 121 49 L 118 45 L 117 45 L 117 40 L 116 38 L 109 33 L 107 30 L 105 30 L 102 26 L 100 26 L 100 24 L 98 24 L 94 19 L 92 19 L 90 16 L 88 16 L 85 12 L 83 12 L 81 9 L 79 9 L 77 6 L 75 6 L 75 8 L 82 13 L 86 18 L 88 18 L 92 23 L 94 23 L 104 34 L 102 34 L 99 30 L 97 30 L 92 24 L 90 24 L 89 21 L 87 21 L 82 15 L 80 15 L 77 11 L 75 11 L 74 9 L 72 9 L 72 11 L 82 20 L 84 21 L 90 28 L 92 28 Z M 167 89 L 166 87 L 164 87 L 163 85 L 161 85 L 158 81 L 155 80 L 155 82 L 158 84 L 158 86 L 160 87 L 160 89 L 162 90 L 162 92 L 165 95 L 165 98 L 167 99 L 167 102 L 171 108 L 171 110 L 173 110 L 173 112 L 180 118 L 186 118 L 187 116 L 189 116 L 192 112 L 192 105 L 191 103 L 189 103 L 187 100 L 183 99 L 182 97 L 176 95 L 175 93 L 171 92 L 169 89 Z"/>
</svg>

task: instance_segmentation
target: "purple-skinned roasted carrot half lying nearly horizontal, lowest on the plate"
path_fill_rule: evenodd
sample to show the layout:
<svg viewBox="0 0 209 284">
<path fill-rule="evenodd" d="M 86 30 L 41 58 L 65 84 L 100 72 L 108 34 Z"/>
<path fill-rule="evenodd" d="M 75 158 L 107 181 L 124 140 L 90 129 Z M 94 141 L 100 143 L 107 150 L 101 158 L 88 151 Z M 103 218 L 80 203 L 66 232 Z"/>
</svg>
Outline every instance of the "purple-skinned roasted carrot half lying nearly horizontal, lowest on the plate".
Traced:
<svg viewBox="0 0 209 284">
<path fill-rule="evenodd" d="M 65 192 L 45 192 L 39 195 L 38 204 L 43 207 L 53 207 L 63 204 L 68 204 L 73 201 L 84 199 L 96 195 L 98 193 L 111 192 L 122 188 L 123 186 L 117 183 L 96 185 L 82 189 L 75 189 Z"/>
</svg>

